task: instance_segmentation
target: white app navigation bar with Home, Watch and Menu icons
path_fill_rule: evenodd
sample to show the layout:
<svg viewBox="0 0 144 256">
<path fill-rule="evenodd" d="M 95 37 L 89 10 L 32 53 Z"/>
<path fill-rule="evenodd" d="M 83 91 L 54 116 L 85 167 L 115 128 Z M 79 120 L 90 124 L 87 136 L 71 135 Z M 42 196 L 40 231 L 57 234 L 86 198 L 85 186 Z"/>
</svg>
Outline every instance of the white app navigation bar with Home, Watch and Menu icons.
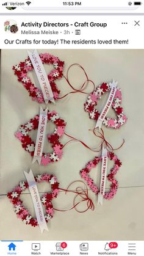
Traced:
<svg viewBox="0 0 144 256">
<path fill-rule="evenodd" d="M 0 241 L 5 255 L 137 255 L 142 256 L 144 241 Z"/>
</svg>

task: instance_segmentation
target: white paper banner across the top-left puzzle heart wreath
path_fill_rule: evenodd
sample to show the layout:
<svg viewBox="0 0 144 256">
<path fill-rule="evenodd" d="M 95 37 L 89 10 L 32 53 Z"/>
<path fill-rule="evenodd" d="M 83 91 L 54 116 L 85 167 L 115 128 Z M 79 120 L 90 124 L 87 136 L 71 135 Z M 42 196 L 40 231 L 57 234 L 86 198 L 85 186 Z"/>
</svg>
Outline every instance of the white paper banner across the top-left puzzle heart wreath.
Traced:
<svg viewBox="0 0 144 256">
<path fill-rule="evenodd" d="M 43 67 L 43 63 L 41 62 L 37 50 L 35 49 L 34 53 L 31 53 L 30 51 L 27 51 L 27 53 L 29 54 L 29 58 L 31 59 L 32 65 L 34 67 L 35 73 L 38 78 L 38 82 L 40 83 L 45 103 L 48 104 L 49 100 L 55 103 L 54 95 L 52 93 L 51 85 L 49 84 L 48 76 L 46 75 L 45 68 Z"/>
</svg>

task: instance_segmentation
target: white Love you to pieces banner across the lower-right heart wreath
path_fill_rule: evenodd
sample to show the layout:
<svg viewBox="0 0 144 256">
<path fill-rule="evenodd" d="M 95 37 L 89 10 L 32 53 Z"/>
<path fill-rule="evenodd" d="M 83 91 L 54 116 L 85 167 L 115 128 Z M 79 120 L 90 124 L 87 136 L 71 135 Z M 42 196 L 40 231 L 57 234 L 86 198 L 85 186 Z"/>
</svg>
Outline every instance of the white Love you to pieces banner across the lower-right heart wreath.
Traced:
<svg viewBox="0 0 144 256">
<path fill-rule="evenodd" d="M 103 196 L 106 188 L 106 177 L 107 177 L 107 149 L 103 147 L 102 150 L 102 164 L 101 164 L 101 186 L 100 192 L 98 193 L 98 205 L 103 205 Z"/>
</svg>

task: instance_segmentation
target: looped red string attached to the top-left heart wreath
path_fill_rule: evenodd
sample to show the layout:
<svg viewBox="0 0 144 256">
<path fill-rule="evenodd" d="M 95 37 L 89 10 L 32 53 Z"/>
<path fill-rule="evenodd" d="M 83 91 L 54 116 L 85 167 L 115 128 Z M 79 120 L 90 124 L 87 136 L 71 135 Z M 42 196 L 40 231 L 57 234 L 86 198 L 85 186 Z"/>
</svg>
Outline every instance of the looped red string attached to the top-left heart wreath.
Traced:
<svg viewBox="0 0 144 256">
<path fill-rule="evenodd" d="M 82 86 L 80 87 L 80 89 L 74 88 L 74 87 L 71 85 L 71 82 L 70 82 L 70 80 L 69 80 L 69 71 L 70 71 L 71 67 L 74 67 L 74 66 L 77 66 L 77 67 L 81 68 L 82 71 L 84 71 L 84 75 L 85 75 L 85 77 L 86 77 L 86 80 L 85 80 L 85 82 L 82 84 Z M 84 68 L 83 68 L 81 65 L 77 64 L 77 63 L 74 63 L 74 64 L 70 65 L 70 67 L 68 67 L 67 74 L 66 74 L 66 76 L 63 75 L 63 78 L 65 78 L 65 80 L 68 82 L 68 85 L 71 87 L 71 89 L 73 89 L 73 91 L 72 91 L 72 92 L 68 92 L 67 94 L 65 94 L 65 95 L 63 95 L 62 97 L 58 98 L 59 100 L 62 99 L 62 98 L 65 98 L 67 95 L 69 95 L 69 94 L 71 94 L 71 93 L 80 92 L 80 93 L 88 94 L 88 92 L 84 92 L 85 88 L 86 88 L 87 85 L 88 85 L 88 82 L 92 82 L 92 84 L 93 84 L 93 90 L 95 89 L 95 84 L 94 84 L 94 82 L 93 82 L 92 80 L 88 79 L 87 73 L 86 73 L 86 71 L 84 70 Z"/>
</svg>

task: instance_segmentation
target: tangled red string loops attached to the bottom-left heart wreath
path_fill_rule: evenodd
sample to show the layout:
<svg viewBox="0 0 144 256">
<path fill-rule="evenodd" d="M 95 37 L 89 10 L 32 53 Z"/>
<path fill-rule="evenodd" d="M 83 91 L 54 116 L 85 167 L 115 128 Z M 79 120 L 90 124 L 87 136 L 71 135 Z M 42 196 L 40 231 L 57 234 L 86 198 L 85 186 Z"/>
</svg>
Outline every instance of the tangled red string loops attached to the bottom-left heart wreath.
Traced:
<svg viewBox="0 0 144 256">
<path fill-rule="evenodd" d="M 70 186 L 73 185 L 76 182 L 81 182 L 82 184 L 85 185 L 85 183 L 83 181 L 77 180 L 77 181 L 73 181 L 72 183 L 70 183 L 68 188 L 70 188 Z M 67 192 L 72 192 L 72 193 L 76 194 L 76 196 L 74 196 L 74 199 L 73 199 L 73 206 L 71 208 L 67 209 L 67 210 L 60 210 L 60 209 L 56 209 L 56 208 L 54 208 L 54 210 L 56 210 L 56 211 L 70 211 L 70 210 L 75 209 L 77 211 L 77 213 L 85 213 L 89 209 L 92 210 L 92 211 L 95 210 L 95 206 L 93 204 L 92 199 L 90 199 L 90 197 L 88 197 L 87 185 L 85 185 L 85 189 L 83 189 L 81 186 L 77 187 L 76 191 L 69 190 L 68 188 L 67 189 L 59 188 L 59 189 L 62 190 L 62 191 L 65 191 L 65 194 L 67 194 Z M 81 197 L 81 200 L 76 203 L 77 197 Z M 83 211 L 80 211 L 80 210 L 77 209 L 77 205 L 79 205 L 82 202 L 87 202 L 87 208 Z"/>
</svg>

